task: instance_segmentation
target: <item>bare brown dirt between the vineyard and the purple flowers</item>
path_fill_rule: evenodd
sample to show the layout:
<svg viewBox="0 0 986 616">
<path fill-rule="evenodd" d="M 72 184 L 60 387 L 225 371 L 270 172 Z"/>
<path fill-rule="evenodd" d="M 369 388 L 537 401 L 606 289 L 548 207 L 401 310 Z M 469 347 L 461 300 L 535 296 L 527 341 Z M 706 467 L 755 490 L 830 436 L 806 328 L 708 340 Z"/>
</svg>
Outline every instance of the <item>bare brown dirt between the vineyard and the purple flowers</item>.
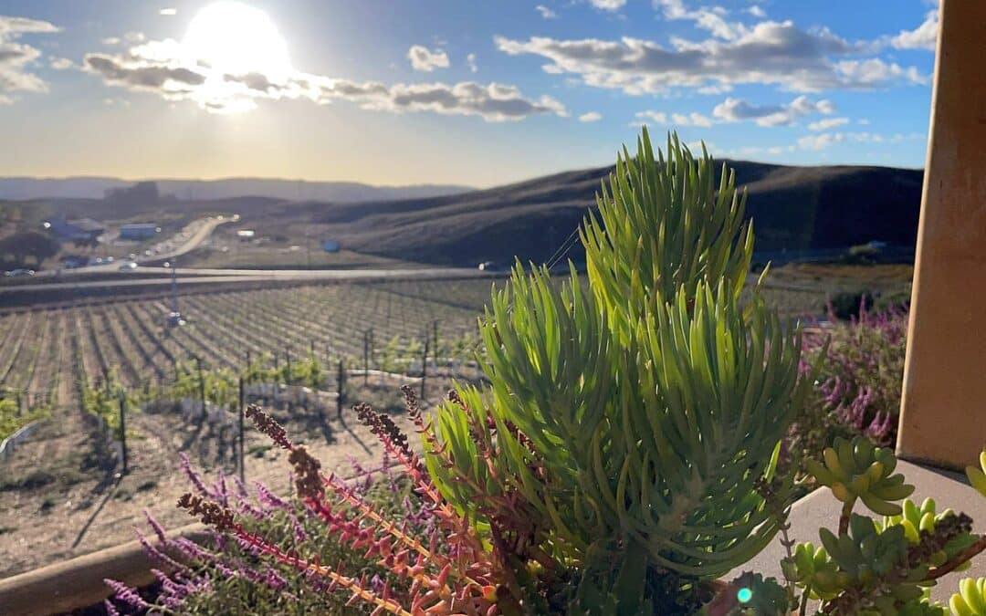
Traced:
<svg viewBox="0 0 986 616">
<path fill-rule="evenodd" d="M 352 412 L 356 401 L 390 412 L 411 442 L 417 441 L 401 412 L 401 381 L 371 376 L 364 386 L 362 380 L 354 378 L 358 390 L 349 394 L 341 418 L 334 402 L 324 413 L 268 407 L 293 441 L 313 450 L 325 472 L 349 476 L 354 474 L 352 460 L 366 468 L 381 460 L 378 441 Z M 449 376 L 430 379 L 426 400 L 438 399 L 451 383 Z M 427 403 L 422 406 L 428 408 Z M 127 432 L 129 470 L 122 477 L 78 410 L 56 414 L 0 466 L 0 579 L 130 541 L 136 538 L 135 529 L 149 531 L 145 510 L 166 527 L 193 521 L 175 506 L 189 490 L 178 451 L 186 453 L 207 483 L 220 470 L 227 476 L 237 472 L 235 428 L 221 435 L 169 411 L 134 413 L 127 418 Z M 245 452 L 247 485 L 260 481 L 277 493 L 288 493 L 286 452 L 270 446 L 248 423 Z"/>
</svg>

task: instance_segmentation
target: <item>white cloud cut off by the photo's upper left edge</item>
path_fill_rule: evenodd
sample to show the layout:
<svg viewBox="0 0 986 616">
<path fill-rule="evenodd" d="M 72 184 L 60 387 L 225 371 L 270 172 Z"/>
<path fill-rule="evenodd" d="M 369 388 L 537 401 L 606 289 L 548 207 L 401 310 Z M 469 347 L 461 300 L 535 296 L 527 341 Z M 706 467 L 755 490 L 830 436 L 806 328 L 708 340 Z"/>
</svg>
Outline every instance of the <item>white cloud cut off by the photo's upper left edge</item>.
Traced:
<svg viewBox="0 0 986 616">
<path fill-rule="evenodd" d="M 0 103 L 14 102 L 12 92 L 46 92 L 47 83 L 31 67 L 41 52 L 36 47 L 20 42 L 24 34 L 53 34 L 60 29 L 49 22 L 25 17 L 0 15 Z"/>
</svg>

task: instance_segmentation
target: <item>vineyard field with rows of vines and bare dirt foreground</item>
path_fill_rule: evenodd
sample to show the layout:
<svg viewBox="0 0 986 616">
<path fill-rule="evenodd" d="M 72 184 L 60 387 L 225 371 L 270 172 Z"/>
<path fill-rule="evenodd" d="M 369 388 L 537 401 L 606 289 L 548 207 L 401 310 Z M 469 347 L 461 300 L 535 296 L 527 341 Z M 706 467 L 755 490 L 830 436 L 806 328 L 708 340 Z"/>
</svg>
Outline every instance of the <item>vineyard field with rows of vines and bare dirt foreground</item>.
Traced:
<svg viewBox="0 0 986 616">
<path fill-rule="evenodd" d="M 765 295 L 792 317 L 819 314 L 827 296 L 859 285 L 815 270 L 779 273 Z M 880 284 L 898 289 L 907 278 Z M 179 296 L 187 323 L 174 328 L 163 299 L 0 315 L 0 441 L 36 428 L 0 458 L 0 547 L 9 554 L 0 577 L 132 538 L 147 507 L 181 523 L 169 506 L 184 487 L 178 452 L 286 489 L 261 435 L 247 428 L 237 450 L 241 377 L 323 460 L 340 469 L 379 460 L 343 406 L 396 410 L 399 385 L 423 387 L 423 371 L 426 407 L 453 378 L 481 378 L 472 360 L 489 292 L 489 280 L 448 280 L 198 293 Z M 273 395 L 271 383 L 294 397 Z M 130 466 L 120 476 L 124 436 Z"/>
</svg>

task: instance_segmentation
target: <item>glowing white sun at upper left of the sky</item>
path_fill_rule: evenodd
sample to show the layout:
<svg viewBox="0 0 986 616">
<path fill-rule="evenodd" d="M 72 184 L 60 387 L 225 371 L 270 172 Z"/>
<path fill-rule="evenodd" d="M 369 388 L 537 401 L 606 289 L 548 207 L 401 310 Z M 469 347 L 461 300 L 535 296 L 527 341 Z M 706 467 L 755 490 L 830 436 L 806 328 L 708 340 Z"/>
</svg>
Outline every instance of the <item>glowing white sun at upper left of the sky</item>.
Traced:
<svg viewBox="0 0 986 616">
<path fill-rule="evenodd" d="M 217 72 L 260 73 L 269 79 L 292 72 L 284 37 L 266 13 L 240 2 L 214 2 L 188 25 L 183 46 Z"/>
</svg>

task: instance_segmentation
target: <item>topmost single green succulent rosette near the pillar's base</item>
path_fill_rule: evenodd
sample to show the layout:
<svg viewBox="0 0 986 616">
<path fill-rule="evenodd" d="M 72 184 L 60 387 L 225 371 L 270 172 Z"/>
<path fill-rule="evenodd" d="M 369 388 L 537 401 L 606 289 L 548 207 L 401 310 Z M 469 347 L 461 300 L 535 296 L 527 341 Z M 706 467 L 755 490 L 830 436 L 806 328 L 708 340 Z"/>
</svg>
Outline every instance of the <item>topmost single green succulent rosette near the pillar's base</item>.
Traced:
<svg viewBox="0 0 986 616">
<path fill-rule="evenodd" d="M 874 513 L 899 515 L 902 510 L 894 501 L 914 492 L 902 474 L 893 474 L 897 465 L 893 451 L 875 446 L 865 437 L 836 439 L 833 446 L 825 448 L 822 459 L 808 460 L 808 470 L 845 504 L 846 511 L 860 500 Z"/>
</svg>

